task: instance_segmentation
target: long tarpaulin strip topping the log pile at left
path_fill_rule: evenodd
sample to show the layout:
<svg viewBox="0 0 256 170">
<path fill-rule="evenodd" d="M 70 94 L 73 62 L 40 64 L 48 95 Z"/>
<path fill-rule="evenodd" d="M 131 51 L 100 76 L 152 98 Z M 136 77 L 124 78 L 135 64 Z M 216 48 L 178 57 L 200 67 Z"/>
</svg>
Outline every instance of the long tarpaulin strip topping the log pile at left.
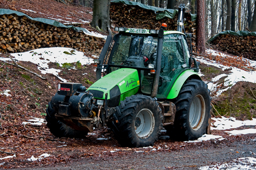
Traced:
<svg viewBox="0 0 256 170">
<path fill-rule="evenodd" d="M 31 16 L 28 16 L 24 13 L 20 13 L 18 11 L 13 11 L 13 10 L 10 10 L 10 9 L 0 9 L 0 15 L 4 15 L 4 14 L 16 14 L 18 16 L 26 16 L 28 19 L 33 20 L 33 21 L 43 22 L 45 24 L 49 24 L 49 25 L 56 26 L 56 27 L 64 27 L 64 28 L 67 28 L 67 29 L 71 28 L 71 29 L 74 29 L 77 32 L 83 31 L 83 33 L 85 33 L 87 35 L 99 37 L 99 36 L 91 33 L 90 31 L 88 31 L 85 28 L 74 27 L 74 26 L 65 26 L 64 24 L 61 24 L 60 22 L 55 21 L 55 20 L 50 20 L 50 19 L 46 19 L 46 18 L 32 18 Z"/>
</svg>

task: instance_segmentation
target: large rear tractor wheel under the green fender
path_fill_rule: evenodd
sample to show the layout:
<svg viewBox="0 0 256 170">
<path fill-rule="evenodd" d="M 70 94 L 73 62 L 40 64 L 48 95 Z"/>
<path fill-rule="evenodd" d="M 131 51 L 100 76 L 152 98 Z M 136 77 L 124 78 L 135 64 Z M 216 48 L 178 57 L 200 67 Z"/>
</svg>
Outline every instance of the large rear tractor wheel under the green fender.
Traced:
<svg viewBox="0 0 256 170">
<path fill-rule="evenodd" d="M 174 125 L 165 127 L 170 137 L 188 141 L 198 139 L 206 133 L 211 117 L 211 97 L 207 84 L 202 80 L 187 80 L 174 104 Z"/>
</svg>

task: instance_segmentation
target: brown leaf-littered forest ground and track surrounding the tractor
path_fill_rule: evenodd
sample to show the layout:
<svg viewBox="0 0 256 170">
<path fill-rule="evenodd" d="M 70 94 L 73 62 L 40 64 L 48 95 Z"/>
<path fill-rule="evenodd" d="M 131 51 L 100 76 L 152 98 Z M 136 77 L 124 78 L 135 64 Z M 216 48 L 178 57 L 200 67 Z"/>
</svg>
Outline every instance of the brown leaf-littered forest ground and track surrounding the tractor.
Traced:
<svg viewBox="0 0 256 170">
<path fill-rule="evenodd" d="M 70 22 L 81 22 L 80 18 L 83 18 L 83 21 L 90 21 L 92 16 L 91 8 L 65 5 L 54 0 L 47 0 L 49 4 L 47 6 L 40 0 L 2 0 L 1 3 L 0 8 L 16 9 L 33 17 L 43 17 L 39 13 L 41 12 L 49 14 L 49 16 L 45 16 L 46 18 L 54 15 L 52 18 L 63 20 L 65 17 L 72 18 L 72 20 L 67 19 Z M 75 13 L 78 8 L 82 9 L 81 11 L 85 14 Z M 62 22 L 61 20 L 59 22 Z M 88 23 L 83 23 L 82 27 L 96 32 L 89 27 Z M 30 54 L 33 55 L 33 53 L 35 54 L 33 51 Z M 0 57 L 8 59 L 11 55 L 14 54 L 0 54 Z M 41 56 L 43 55 L 41 54 Z M 75 58 L 74 55 L 72 57 Z M 44 60 L 42 58 L 40 60 Z M 246 75 L 246 73 L 255 74 L 253 71 L 255 65 L 248 65 L 245 60 L 239 60 L 236 57 L 229 58 L 230 60 L 227 58 L 221 59 L 221 57 L 212 56 L 197 58 L 201 62 L 202 79 L 209 84 L 208 86 L 212 83 L 212 87 L 214 87 L 212 89 L 212 104 L 215 108 L 212 109 L 213 130 L 211 130 L 211 134 L 221 136 L 224 140 L 210 139 L 195 143 L 174 141 L 166 136 L 163 129 L 154 146 L 147 148 L 121 147 L 109 128 L 96 129 L 83 139 L 56 138 L 48 130 L 44 119 L 48 102 L 57 91 L 59 78 L 52 73 L 43 75 L 37 63 L 34 62 L 20 60 L 18 64 L 43 75 L 47 80 L 42 80 L 23 69 L 0 61 L 0 91 L 2 92 L 0 94 L 0 151 L 2 151 L 0 153 L 0 169 L 53 169 L 54 167 L 55 169 L 178 170 L 197 169 L 200 166 L 214 166 L 216 163 L 224 162 L 231 165 L 233 159 L 256 157 L 255 133 L 230 135 L 226 129 L 214 129 L 215 126 L 218 126 L 215 123 L 218 121 L 216 117 L 220 118 L 218 114 L 225 115 L 227 119 L 235 117 L 241 121 L 251 119 L 254 121 L 254 117 L 256 117 L 256 83 L 251 81 L 253 78 L 247 78 Z M 208 62 L 202 62 L 203 60 Z M 47 65 L 49 69 L 59 69 L 58 76 L 62 79 L 79 82 L 89 87 L 96 81 L 95 70 L 90 63 L 81 63 L 81 60 L 66 64 L 52 61 Z M 218 63 L 222 65 L 218 65 Z M 220 92 L 229 87 L 226 84 L 228 83 L 226 79 L 230 75 L 236 74 L 236 68 L 241 73 L 245 71 L 243 72 L 245 75 L 241 75 L 241 77 L 247 79 L 238 81 L 232 87 L 230 86 L 230 89 Z M 238 74 L 236 75 L 237 79 L 240 78 Z M 217 79 L 217 76 L 220 78 Z M 214 78 L 216 81 L 212 80 Z M 7 93 L 3 93 L 4 91 Z M 230 122 L 233 121 L 230 120 Z M 246 129 L 256 129 L 256 127 L 252 124 L 232 128 L 228 131 Z M 41 156 L 42 154 L 45 155 Z M 10 158 L 1 159 L 7 156 Z"/>
</svg>

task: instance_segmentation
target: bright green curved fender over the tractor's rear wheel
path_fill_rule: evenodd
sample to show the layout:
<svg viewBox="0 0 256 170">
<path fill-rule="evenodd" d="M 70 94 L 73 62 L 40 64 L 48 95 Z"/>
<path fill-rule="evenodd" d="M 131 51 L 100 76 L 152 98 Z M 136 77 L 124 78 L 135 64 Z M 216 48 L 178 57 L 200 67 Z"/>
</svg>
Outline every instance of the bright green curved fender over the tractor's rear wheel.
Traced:
<svg viewBox="0 0 256 170">
<path fill-rule="evenodd" d="M 166 99 L 174 99 L 175 97 L 177 97 L 178 94 L 180 93 L 180 89 L 182 88 L 182 86 L 180 85 L 183 85 L 188 78 L 202 80 L 197 73 L 190 69 L 182 72 L 174 82 L 173 87 L 171 88 Z"/>
</svg>

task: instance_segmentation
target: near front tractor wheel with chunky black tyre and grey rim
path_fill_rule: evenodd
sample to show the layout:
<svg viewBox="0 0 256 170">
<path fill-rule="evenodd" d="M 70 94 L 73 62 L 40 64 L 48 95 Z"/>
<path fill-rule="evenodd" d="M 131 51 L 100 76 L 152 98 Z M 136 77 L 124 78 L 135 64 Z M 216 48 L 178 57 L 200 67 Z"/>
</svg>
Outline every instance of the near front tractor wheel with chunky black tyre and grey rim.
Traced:
<svg viewBox="0 0 256 170">
<path fill-rule="evenodd" d="M 163 127 L 158 102 L 144 95 L 126 97 L 113 117 L 113 132 L 122 146 L 153 146 Z"/>
</svg>

